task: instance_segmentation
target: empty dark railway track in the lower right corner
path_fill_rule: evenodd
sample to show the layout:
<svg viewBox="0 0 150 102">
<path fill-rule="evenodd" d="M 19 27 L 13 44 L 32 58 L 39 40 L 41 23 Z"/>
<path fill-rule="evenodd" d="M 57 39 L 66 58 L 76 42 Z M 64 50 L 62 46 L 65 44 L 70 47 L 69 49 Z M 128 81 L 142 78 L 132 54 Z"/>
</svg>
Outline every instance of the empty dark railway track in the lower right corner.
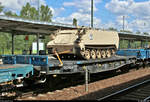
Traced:
<svg viewBox="0 0 150 102">
<path fill-rule="evenodd" d="M 150 79 L 97 99 L 98 101 L 150 101 Z"/>
</svg>

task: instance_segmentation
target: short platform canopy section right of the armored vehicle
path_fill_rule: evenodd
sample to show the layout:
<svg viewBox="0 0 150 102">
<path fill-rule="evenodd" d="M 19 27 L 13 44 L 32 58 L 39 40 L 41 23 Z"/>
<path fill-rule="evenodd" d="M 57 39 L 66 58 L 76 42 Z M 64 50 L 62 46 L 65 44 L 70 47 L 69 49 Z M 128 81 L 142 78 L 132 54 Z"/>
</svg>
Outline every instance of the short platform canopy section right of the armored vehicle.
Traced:
<svg viewBox="0 0 150 102">
<path fill-rule="evenodd" d="M 119 38 L 124 40 L 150 41 L 150 35 L 118 32 Z"/>
</svg>

